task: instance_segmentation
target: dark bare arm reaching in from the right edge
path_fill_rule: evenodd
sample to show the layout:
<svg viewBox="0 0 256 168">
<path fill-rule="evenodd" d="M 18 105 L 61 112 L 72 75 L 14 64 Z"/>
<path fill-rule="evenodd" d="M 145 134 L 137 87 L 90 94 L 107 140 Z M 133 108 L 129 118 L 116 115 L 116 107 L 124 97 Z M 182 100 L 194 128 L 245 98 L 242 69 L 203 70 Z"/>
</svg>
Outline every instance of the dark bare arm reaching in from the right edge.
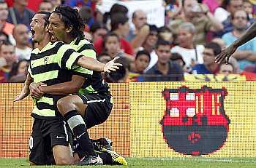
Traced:
<svg viewBox="0 0 256 168">
<path fill-rule="evenodd" d="M 230 59 L 230 56 L 233 55 L 234 52 L 236 52 L 236 49 L 245 44 L 247 41 L 255 38 L 256 36 L 256 23 L 253 23 L 252 26 L 244 33 L 243 36 L 236 39 L 236 41 L 233 42 L 229 47 L 224 49 L 215 59 L 216 63 L 222 63 L 222 61 L 225 60 L 226 63 L 228 63 L 228 60 Z"/>
</svg>

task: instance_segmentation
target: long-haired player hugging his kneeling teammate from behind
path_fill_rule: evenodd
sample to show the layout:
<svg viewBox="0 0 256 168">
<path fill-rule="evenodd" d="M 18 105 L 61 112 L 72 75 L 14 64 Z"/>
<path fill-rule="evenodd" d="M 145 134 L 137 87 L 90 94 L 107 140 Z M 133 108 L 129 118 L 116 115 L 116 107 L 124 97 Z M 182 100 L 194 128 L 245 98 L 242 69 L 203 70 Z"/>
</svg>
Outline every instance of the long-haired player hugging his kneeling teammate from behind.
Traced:
<svg viewBox="0 0 256 168">
<path fill-rule="evenodd" d="M 83 31 L 81 31 L 83 30 L 83 22 L 77 9 L 67 6 L 56 7 L 50 15 L 49 23 L 49 33 L 52 40 L 64 41 L 80 54 L 96 59 L 94 46 L 83 38 Z M 75 70 L 77 74 L 82 71 L 83 69 Z M 52 86 L 35 85 L 31 92 L 36 95 L 72 93 L 69 92 L 69 87 L 70 83 L 67 82 Z M 75 154 L 75 159 L 82 159 L 80 164 L 94 164 L 97 160 L 97 153 L 94 152 L 94 146 L 89 139 L 87 129 L 106 121 L 113 106 L 108 84 L 102 80 L 101 73 L 94 71 L 92 78 L 86 79 L 77 95 L 63 97 L 57 105 L 78 141 L 80 150 L 77 151 L 78 155 Z M 116 152 L 109 152 L 112 154 L 114 162 L 127 164 L 125 159 L 118 156 Z"/>
</svg>

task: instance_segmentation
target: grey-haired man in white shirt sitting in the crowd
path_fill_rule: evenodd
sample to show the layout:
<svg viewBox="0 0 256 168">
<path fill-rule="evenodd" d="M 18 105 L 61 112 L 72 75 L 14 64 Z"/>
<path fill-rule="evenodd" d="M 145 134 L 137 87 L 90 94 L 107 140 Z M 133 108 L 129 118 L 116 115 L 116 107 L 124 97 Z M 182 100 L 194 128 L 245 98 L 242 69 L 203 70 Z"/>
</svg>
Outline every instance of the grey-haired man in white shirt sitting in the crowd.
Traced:
<svg viewBox="0 0 256 168">
<path fill-rule="evenodd" d="M 187 68 L 190 69 L 197 63 L 203 63 L 203 45 L 195 45 L 195 26 L 192 23 L 182 23 L 178 26 L 178 46 L 171 52 L 177 52 L 183 58 Z"/>
</svg>

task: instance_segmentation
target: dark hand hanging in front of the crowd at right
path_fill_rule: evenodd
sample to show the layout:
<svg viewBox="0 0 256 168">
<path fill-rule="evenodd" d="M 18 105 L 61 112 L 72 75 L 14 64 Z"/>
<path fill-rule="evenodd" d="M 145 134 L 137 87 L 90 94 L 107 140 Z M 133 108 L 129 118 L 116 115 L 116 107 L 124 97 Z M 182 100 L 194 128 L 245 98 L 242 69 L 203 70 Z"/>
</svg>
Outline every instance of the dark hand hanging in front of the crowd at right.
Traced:
<svg viewBox="0 0 256 168">
<path fill-rule="evenodd" d="M 219 55 L 217 55 L 217 57 L 215 58 L 215 63 L 223 63 L 224 61 L 225 63 L 229 63 L 230 56 L 234 52 L 236 52 L 236 47 L 234 45 L 230 45 L 226 49 L 222 50 Z"/>
</svg>

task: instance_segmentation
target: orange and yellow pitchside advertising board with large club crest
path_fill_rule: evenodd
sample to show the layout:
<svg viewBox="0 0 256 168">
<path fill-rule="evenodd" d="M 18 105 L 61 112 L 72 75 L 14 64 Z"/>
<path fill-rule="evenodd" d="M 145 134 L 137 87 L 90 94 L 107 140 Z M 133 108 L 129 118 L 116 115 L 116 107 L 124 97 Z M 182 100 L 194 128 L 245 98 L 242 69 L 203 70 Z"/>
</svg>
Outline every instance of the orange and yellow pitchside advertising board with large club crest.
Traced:
<svg viewBox="0 0 256 168">
<path fill-rule="evenodd" d="M 30 97 L 13 103 L 22 84 L 0 84 L 0 157 L 29 153 Z M 110 84 L 113 111 L 91 128 L 131 157 L 255 157 L 254 81 Z"/>
</svg>

